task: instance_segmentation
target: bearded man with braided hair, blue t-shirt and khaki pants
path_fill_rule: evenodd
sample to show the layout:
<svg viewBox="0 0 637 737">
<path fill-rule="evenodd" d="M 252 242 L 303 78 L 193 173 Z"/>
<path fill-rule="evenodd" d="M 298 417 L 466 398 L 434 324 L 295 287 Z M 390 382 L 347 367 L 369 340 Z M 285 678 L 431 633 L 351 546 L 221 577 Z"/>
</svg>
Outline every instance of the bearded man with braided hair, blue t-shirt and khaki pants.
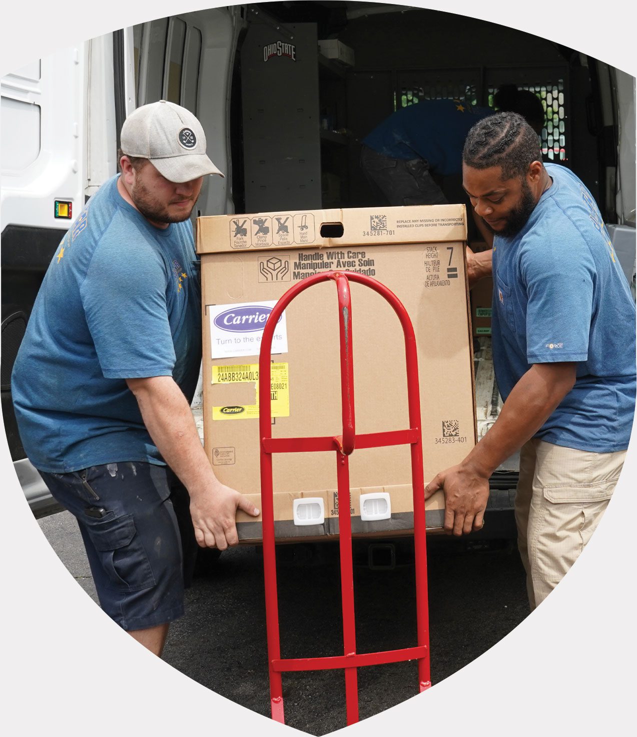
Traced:
<svg viewBox="0 0 637 737">
<path fill-rule="evenodd" d="M 565 167 L 542 164 L 521 116 L 476 123 L 462 158 L 464 189 L 494 234 L 492 251 L 467 251 L 467 269 L 470 285 L 493 276 L 504 405 L 425 497 L 444 489 L 448 534 L 479 530 L 490 475 L 521 449 L 515 519 L 533 609 L 581 553 L 622 470 L 635 412 L 635 303 L 591 193 Z"/>
</svg>

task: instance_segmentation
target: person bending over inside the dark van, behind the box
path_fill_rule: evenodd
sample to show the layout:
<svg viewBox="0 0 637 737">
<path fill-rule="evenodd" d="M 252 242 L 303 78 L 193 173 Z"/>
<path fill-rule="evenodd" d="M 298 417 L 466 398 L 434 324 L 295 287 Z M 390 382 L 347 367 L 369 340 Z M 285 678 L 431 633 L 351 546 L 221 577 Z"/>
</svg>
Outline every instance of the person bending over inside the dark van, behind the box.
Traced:
<svg viewBox="0 0 637 737">
<path fill-rule="evenodd" d="M 520 113 L 539 135 L 544 125 L 540 99 L 517 85 L 502 85 L 493 99 L 499 111 Z M 424 99 L 391 113 L 364 139 L 361 168 L 391 206 L 442 205 L 448 197 L 442 178 L 462 169 L 462 147 L 470 128 L 494 113 L 462 99 Z M 478 218 L 476 226 L 490 244 L 492 236 Z"/>
</svg>

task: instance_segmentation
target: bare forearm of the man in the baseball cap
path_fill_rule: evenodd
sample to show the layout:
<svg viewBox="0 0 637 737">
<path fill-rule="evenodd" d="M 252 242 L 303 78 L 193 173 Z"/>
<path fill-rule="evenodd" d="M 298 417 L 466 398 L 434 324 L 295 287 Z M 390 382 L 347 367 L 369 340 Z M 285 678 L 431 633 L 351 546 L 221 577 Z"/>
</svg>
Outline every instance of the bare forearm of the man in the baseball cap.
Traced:
<svg viewBox="0 0 637 737">
<path fill-rule="evenodd" d="M 129 386 L 150 437 L 191 497 L 215 486 L 217 478 L 201 445 L 187 399 L 173 377 L 131 380 Z"/>
</svg>

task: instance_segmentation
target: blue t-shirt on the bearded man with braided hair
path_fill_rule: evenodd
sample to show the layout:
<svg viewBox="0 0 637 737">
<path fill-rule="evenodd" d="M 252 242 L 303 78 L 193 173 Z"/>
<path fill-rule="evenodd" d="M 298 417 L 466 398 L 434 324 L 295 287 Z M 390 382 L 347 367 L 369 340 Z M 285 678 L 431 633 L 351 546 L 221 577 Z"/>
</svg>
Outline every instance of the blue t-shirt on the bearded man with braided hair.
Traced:
<svg viewBox="0 0 637 737">
<path fill-rule="evenodd" d="M 512 238 L 493 242 L 492 347 L 503 399 L 533 363 L 577 363 L 536 433 L 556 445 L 625 450 L 635 413 L 635 303 L 602 216 L 565 167 Z"/>
</svg>

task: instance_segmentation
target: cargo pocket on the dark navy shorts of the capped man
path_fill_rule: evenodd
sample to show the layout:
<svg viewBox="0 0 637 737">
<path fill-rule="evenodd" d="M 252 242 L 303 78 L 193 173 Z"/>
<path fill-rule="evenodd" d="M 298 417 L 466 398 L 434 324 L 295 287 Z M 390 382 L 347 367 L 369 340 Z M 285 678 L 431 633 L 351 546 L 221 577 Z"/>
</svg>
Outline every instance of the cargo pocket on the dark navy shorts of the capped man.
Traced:
<svg viewBox="0 0 637 737">
<path fill-rule="evenodd" d="M 139 591 L 155 585 L 155 576 L 132 514 L 107 522 L 85 522 L 85 526 L 108 576 L 108 588 Z"/>
</svg>

